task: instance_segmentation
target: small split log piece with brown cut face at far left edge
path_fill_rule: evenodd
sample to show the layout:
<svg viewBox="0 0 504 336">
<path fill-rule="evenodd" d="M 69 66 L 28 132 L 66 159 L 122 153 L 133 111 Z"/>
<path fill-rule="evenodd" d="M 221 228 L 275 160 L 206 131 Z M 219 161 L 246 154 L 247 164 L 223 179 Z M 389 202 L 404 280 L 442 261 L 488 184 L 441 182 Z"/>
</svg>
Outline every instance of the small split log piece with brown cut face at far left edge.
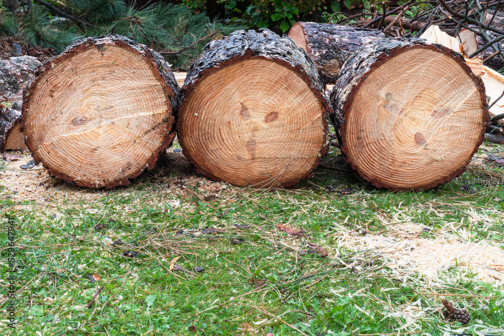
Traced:
<svg viewBox="0 0 504 336">
<path fill-rule="evenodd" d="M 0 104 L 0 152 L 27 149 L 19 131 L 21 111 Z"/>
</svg>

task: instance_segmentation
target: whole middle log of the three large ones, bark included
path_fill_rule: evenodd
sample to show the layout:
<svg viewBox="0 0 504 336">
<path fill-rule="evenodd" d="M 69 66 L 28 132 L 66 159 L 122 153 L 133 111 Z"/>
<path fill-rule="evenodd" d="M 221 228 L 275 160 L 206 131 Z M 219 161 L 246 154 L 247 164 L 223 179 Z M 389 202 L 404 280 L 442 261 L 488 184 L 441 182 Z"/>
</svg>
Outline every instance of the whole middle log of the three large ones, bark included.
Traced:
<svg viewBox="0 0 504 336">
<path fill-rule="evenodd" d="M 177 138 L 213 180 L 290 187 L 327 153 L 329 109 L 302 49 L 267 29 L 236 31 L 207 44 L 187 72 Z"/>
</svg>

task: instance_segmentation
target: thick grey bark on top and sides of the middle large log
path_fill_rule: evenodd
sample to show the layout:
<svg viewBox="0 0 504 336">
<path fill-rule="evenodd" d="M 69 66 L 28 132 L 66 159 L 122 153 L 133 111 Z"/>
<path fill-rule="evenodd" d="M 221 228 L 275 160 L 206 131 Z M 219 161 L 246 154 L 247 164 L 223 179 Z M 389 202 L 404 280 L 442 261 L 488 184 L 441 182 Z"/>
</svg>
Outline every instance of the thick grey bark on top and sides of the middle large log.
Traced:
<svg viewBox="0 0 504 336">
<path fill-rule="evenodd" d="M 326 117 L 331 108 L 327 102 L 315 64 L 302 49 L 296 47 L 291 39 L 282 38 L 268 29 L 261 29 L 259 32 L 254 30 L 239 30 L 233 32 L 223 40 L 214 40 L 208 43 L 200 57 L 188 69 L 184 85 L 180 90 L 179 111 L 183 110 L 184 101 L 188 94 L 196 88 L 198 82 L 205 76 L 233 63 L 252 58 L 271 60 L 297 72 L 297 75 L 306 83 L 323 106 L 322 118 L 324 129 L 321 131 L 327 135 L 328 125 Z M 180 136 L 180 123 L 177 127 L 179 132 L 178 141 L 183 148 L 184 143 L 183 137 Z M 321 147 L 320 155 L 322 157 L 327 155 L 328 147 L 329 142 L 326 142 Z M 200 169 L 196 164 L 196 160 L 186 150 L 183 151 L 183 154 L 195 163 L 200 173 L 213 180 L 220 180 L 211 172 Z M 320 157 L 313 164 L 309 172 L 302 176 L 301 179 L 312 176 L 311 171 L 317 167 L 319 160 Z M 293 181 L 282 186 L 291 187 L 299 181 Z"/>
</svg>

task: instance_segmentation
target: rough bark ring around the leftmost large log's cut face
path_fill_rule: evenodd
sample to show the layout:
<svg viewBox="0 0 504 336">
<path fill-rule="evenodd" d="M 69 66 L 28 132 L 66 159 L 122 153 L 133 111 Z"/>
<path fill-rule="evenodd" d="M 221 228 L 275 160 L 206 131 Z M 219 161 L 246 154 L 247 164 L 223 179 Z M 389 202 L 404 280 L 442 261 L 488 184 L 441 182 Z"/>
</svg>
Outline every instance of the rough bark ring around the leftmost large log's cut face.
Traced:
<svg viewBox="0 0 504 336">
<path fill-rule="evenodd" d="M 30 92 L 33 92 L 33 90 L 35 90 L 36 86 L 38 85 L 38 82 L 41 78 L 40 75 L 43 74 L 45 71 L 51 69 L 54 66 L 54 64 L 58 64 L 59 62 L 64 61 L 67 58 L 71 58 L 75 53 L 88 50 L 93 47 L 96 47 L 98 50 L 100 50 L 100 48 L 102 48 L 105 44 L 116 45 L 131 52 L 134 53 L 136 52 L 144 57 L 148 66 L 151 68 L 153 75 L 160 81 L 160 83 L 163 83 L 164 87 L 166 88 L 165 91 L 166 99 L 170 103 L 171 107 L 171 111 L 168 111 L 171 113 L 171 116 L 170 118 L 168 118 L 166 122 L 167 123 L 171 122 L 171 126 L 167 127 L 168 131 L 165 135 L 163 142 L 156 150 L 153 151 L 152 156 L 149 159 L 147 159 L 146 161 L 147 163 L 144 169 L 132 172 L 126 175 L 124 178 L 117 179 L 108 184 L 104 183 L 96 186 L 86 182 L 75 182 L 70 176 L 60 172 L 55 172 L 46 167 L 47 172 L 49 172 L 51 175 L 55 176 L 58 179 L 70 182 L 80 187 L 93 188 L 93 189 L 98 188 L 110 189 L 113 187 L 129 185 L 130 179 L 134 179 L 138 177 L 140 174 L 142 174 L 144 171 L 151 170 L 154 167 L 161 152 L 163 152 L 168 146 L 171 146 L 171 144 L 173 143 L 173 139 L 175 138 L 176 119 L 178 110 L 177 96 L 180 91 L 180 87 L 178 86 L 177 81 L 175 80 L 175 75 L 171 71 L 168 62 L 164 60 L 163 56 L 147 48 L 147 46 L 140 43 L 136 43 L 127 37 L 115 34 L 79 39 L 75 41 L 72 45 L 68 46 L 61 54 L 43 63 L 42 66 L 39 68 L 39 70 L 35 73 L 35 77 L 33 78 L 30 85 L 23 90 L 23 110 L 21 113 L 21 123 L 20 123 L 21 131 L 25 126 L 26 114 L 27 114 L 26 110 L 28 109 L 28 104 L 30 101 Z M 37 163 L 41 163 L 40 158 L 34 152 L 33 144 L 30 142 L 30 139 L 28 139 L 27 136 L 25 136 L 25 143 L 28 146 L 30 152 L 32 153 L 33 160 Z"/>
</svg>

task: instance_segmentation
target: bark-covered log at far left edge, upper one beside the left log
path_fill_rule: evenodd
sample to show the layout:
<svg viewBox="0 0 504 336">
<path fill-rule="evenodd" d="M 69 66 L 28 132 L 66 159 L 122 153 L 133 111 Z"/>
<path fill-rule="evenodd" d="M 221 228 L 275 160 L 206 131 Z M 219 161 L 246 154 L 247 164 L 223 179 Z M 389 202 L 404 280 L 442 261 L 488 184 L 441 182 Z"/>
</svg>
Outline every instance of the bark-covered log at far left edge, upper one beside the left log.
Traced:
<svg viewBox="0 0 504 336">
<path fill-rule="evenodd" d="M 33 56 L 0 60 L 0 102 L 22 100 L 23 89 L 29 85 L 41 64 Z"/>
</svg>

